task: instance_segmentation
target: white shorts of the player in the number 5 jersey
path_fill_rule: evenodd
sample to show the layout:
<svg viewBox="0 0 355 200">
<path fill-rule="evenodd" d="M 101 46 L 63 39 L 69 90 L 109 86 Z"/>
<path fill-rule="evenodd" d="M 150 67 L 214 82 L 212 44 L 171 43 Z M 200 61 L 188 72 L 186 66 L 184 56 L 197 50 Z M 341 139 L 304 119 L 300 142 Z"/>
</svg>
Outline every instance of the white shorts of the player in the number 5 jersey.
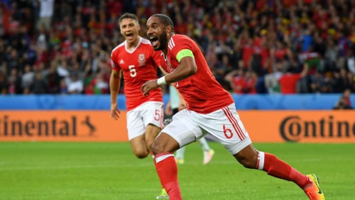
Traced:
<svg viewBox="0 0 355 200">
<path fill-rule="evenodd" d="M 131 140 L 145 133 L 145 127 L 153 124 L 163 127 L 164 103 L 159 101 L 147 101 L 137 108 L 127 112 L 128 139 Z"/>
</svg>

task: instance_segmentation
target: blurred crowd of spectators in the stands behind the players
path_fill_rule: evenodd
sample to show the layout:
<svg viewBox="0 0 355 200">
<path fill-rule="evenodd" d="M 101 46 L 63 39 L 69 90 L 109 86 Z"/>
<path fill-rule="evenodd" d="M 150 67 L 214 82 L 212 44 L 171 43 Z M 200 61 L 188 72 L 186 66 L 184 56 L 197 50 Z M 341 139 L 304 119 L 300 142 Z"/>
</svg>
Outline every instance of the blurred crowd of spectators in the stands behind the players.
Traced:
<svg viewBox="0 0 355 200">
<path fill-rule="evenodd" d="M 1 0 L 0 93 L 109 93 L 118 18 L 170 16 L 235 93 L 355 91 L 355 0 Z M 123 90 L 121 89 L 121 92 Z M 165 90 L 166 92 L 166 90 Z"/>
</svg>

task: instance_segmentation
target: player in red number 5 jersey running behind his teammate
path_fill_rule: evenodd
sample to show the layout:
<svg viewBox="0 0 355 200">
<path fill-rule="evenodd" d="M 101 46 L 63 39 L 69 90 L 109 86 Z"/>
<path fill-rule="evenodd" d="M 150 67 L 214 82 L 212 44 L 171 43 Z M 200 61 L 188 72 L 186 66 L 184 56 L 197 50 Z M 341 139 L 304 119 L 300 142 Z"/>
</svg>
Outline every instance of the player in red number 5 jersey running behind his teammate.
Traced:
<svg viewBox="0 0 355 200">
<path fill-rule="evenodd" d="M 154 51 L 150 41 L 139 36 L 140 25 L 135 14 L 123 14 L 119 18 L 119 25 L 126 40 L 111 53 L 111 117 L 118 120 L 120 114 L 117 109 L 117 94 L 122 71 L 128 111 L 128 139 L 133 153 L 137 158 L 143 159 L 151 152 L 152 143 L 161 130 L 164 104 L 161 88 L 155 88 L 150 95 L 143 96 L 141 86 L 147 80 L 158 78 L 161 52 Z M 157 199 L 169 199 L 164 189 Z"/>
</svg>

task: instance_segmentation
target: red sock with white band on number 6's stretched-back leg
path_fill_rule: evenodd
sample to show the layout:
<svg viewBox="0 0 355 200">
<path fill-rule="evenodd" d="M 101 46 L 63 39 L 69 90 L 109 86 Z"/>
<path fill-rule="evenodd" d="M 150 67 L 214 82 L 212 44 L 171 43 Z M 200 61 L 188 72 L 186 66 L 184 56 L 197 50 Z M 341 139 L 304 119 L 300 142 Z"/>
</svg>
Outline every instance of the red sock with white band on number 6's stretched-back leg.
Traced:
<svg viewBox="0 0 355 200">
<path fill-rule="evenodd" d="M 271 176 L 292 181 L 302 189 L 312 185 L 312 181 L 306 175 L 272 154 L 259 152 L 256 168 L 266 171 Z"/>
</svg>

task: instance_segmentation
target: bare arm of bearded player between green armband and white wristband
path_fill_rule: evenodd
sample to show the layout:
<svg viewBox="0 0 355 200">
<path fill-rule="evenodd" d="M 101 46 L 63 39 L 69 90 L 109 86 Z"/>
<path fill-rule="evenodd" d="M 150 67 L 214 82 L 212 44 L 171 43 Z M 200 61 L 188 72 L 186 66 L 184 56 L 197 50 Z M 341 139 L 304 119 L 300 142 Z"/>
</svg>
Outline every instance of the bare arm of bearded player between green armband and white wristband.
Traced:
<svg viewBox="0 0 355 200">
<path fill-rule="evenodd" d="M 165 76 L 167 83 L 184 80 L 197 72 L 195 58 L 187 56 L 180 60 L 179 66 L 170 74 Z"/>
</svg>

